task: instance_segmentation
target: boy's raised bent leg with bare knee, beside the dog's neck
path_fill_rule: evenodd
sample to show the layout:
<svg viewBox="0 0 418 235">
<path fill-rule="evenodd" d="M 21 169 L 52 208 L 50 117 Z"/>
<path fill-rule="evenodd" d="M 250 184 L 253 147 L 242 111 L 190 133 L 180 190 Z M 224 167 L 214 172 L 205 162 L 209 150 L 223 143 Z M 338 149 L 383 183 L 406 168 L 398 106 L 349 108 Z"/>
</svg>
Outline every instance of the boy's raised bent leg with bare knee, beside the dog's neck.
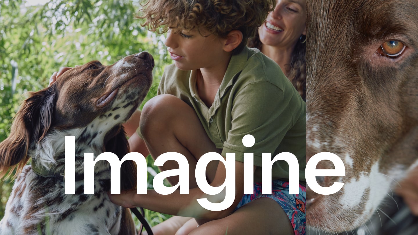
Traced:
<svg viewBox="0 0 418 235">
<path fill-rule="evenodd" d="M 221 153 L 207 136 L 196 112 L 184 101 L 173 95 L 158 95 L 143 107 L 140 130 L 151 156 L 155 159 L 162 153 L 177 152 L 189 162 L 190 188 L 197 187 L 196 163 L 204 153 Z M 208 181 L 215 176 L 218 162 L 211 161 L 206 169 Z M 176 161 L 167 161 L 161 171 L 178 169 Z M 178 183 L 178 176 L 169 177 L 171 185 Z"/>
</svg>

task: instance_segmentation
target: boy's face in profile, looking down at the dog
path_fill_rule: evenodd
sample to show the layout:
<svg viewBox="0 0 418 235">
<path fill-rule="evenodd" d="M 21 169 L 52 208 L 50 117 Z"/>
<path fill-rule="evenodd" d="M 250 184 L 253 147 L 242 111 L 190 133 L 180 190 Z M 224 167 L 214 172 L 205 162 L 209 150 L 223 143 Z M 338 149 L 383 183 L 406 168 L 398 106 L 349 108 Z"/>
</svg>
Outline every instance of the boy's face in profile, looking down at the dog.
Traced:
<svg viewBox="0 0 418 235">
<path fill-rule="evenodd" d="M 202 36 L 203 35 L 203 36 Z M 204 30 L 183 30 L 179 33 L 168 31 L 164 44 L 168 47 L 171 59 L 181 70 L 216 68 L 229 53 L 224 51 L 226 39 Z"/>
</svg>

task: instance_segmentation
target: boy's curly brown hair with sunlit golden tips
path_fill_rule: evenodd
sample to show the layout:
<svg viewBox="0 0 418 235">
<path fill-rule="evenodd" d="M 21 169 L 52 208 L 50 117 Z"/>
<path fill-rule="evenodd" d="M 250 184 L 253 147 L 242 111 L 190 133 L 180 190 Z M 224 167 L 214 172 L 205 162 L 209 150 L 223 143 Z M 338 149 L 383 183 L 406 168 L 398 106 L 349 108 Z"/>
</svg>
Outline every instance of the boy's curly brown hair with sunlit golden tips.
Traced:
<svg viewBox="0 0 418 235">
<path fill-rule="evenodd" d="M 145 19 L 142 26 L 160 33 L 203 27 L 225 38 L 232 30 L 239 30 L 242 42 L 232 51 L 237 54 L 275 5 L 275 0 L 148 0 L 136 17 Z"/>
</svg>

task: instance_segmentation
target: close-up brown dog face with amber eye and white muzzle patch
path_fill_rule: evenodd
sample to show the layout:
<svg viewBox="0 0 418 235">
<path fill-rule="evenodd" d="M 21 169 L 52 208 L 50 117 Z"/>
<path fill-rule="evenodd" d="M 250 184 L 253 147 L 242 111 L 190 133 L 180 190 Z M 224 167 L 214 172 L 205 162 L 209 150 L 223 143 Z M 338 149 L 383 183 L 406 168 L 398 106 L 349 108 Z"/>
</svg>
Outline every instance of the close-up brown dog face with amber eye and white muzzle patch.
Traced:
<svg viewBox="0 0 418 235">
<path fill-rule="evenodd" d="M 307 18 L 307 160 L 336 153 L 331 195 L 307 190 L 306 220 L 328 232 L 362 225 L 418 156 L 418 2 L 313 0 Z M 318 169 L 333 169 L 321 161 Z"/>
</svg>

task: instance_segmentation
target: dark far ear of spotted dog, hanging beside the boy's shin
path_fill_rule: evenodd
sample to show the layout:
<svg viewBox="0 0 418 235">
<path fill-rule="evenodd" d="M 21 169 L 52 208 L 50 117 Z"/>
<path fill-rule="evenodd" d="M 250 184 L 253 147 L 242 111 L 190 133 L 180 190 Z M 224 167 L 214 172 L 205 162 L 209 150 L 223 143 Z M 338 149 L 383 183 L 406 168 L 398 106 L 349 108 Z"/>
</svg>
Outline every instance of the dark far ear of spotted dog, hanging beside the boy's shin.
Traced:
<svg viewBox="0 0 418 235">
<path fill-rule="evenodd" d="M 115 153 L 119 159 L 129 153 L 129 143 L 123 127 L 118 127 L 116 135 L 106 143 L 106 152 Z M 122 190 L 134 189 L 137 181 L 137 167 L 133 161 L 125 161 L 120 167 L 120 188 Z"/>
</svg>

